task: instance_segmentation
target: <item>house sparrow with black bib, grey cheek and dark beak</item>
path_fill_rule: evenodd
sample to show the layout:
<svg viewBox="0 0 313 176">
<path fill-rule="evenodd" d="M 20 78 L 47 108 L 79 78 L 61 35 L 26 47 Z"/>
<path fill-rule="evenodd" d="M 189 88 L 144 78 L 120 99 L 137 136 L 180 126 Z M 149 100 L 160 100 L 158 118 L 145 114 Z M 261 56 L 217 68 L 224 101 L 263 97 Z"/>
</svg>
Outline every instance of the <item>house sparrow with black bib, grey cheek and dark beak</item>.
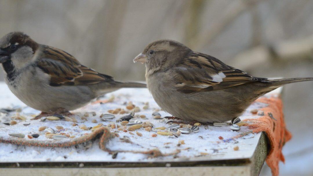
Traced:
<svg viewBox="0 0 313 176">
<path fill-rule="evenodd" d="M 119 88 L 146 88 L 142 83 L 114 81 L 81 65 L 72 55 L 42 45 L 21 32 L 0 39 L 0 63 L 5 82 L 26 105 L 42 111 L 36 119 L 68 113 Z"/>
</svg>

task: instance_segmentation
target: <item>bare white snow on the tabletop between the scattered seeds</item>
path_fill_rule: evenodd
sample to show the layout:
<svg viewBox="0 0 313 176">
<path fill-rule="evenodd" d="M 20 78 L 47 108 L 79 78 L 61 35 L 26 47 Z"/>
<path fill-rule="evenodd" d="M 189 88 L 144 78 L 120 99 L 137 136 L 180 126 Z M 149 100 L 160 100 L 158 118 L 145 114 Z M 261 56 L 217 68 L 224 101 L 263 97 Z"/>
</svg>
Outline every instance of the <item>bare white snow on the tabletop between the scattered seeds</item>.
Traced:
<svg viewBox="0 0 313 176">
<path fill-rule="evenodd" d="M 5 83 L 0 83 L 0 108 L 13 108 L 20 107 L 22 111 L 19 112 L 19 115 L 22 115 L 27 118 L 26 121 L 18 120 L 16 125 L 5 125 L 2 122 L 7 121 L 10 117 L 15 114 L 0 114 L 0 136 L 4 138 L 15 138 L 9 136 L 8 133 L 24 133 L 27 138 L 27 134 L 38 133 L 40 136 L 38 140 L 53 140 L 45 137 L 44 133 L 46 131 L 39 132 L 38 128 L 40 126 L 47 126 L 53 129 L 56 129 L 55 126 L 64 127 L 64 133 L 70 135 L 75 135 L 76 137 L 82 136 L 85 133 L 91 133 L 91 130 L 82 130 L 79 128 L 79 125 L 85 124 L 87 127 L 93 127 L 98 123 L 103 123 L 107 125 L 111 122 L 100 121 L 100 114 L 108 113 L 107 111 L 115 108 L 126 109 L 127 103 L 131 101 L 136 106 L 140 107 L 141 111 L 136 114 L 146 115 L 146 119 L 139 118 L 141 121 L 149 121 L 154 124 L 154 127 L 165 126 L 168 127 L 168 124 L 164 120 L 158 120 L 152 118 L 152 113 L 155 109 L 159 109 L 157 104 L 154 102 L 151 94 L 147 89 L 135 89 L 135 88 L 124 88 L 113 93 L 105 95 L 100 100 L 109 99 L 114 96 L 113 102 L 110 103 L 96 103 L 89 104 L 83 108 L 77 109 L 72 113 L 75 113 L 75 118 L 78 121 L 78 126 L 72 126 L 73 122 L 68 122 L 64 120 L 58 121 L 49 121 L 40 122 L 40 120 L 30 120 L 31 115 L 39 114 L 40 112 L 32 108 L 27 107 L 23 104 L 18 98 L 16 98 L 13 93 L 8 89 Z M 280 90 L 276 91 L 274 94 L 279 93 Z M 268 95 L 267 95 L 268 96 Z M 143 110 L 145 102 L 149 102 L 149 108 Z M 253 103 L 246 112 L 240 117 L 241 120 L 245 118 L 257 118 L 257 115 L 250 113 L 252 109 L 259 109 L 265 107 L 264 103 Z M 127 110 L 127 109 L 126 109 Z M 82 120 L 81 117 L 84 116 L 86 112 L 90 112 L 87 120 Z M 96 115 L 93 116 L 91 112 L 96 112 Z M 170 116 L 170 114 L 159 111 L 162 117 Z M 122 116 L 127 114 L 115 114 L 115 118 L 111 121 L 115 124 L 115 121 Z M 92 123 L 92 120 L 97 120 L 97 123 Z M 30 123 L 28 126 L 23 124 Z M 244 138 L 239 138 L 232 140 L 230 142 L 220 142 L 218 137 L 222 136 L 224 139 L 231 138 L 236 136 L 239 133 L 248 131 L 247 127 L 241 128 L 239 131 L 230 130 L 229 126 L 224 127 L 215 127 L 208 126 L 208 129 L 205 129 L 203 125 L 200 126 L 200 131 L 198 133 L 182 134 L 178 138 L 168 137 L 158 135 L 157 137 L 151 137 L 153 131 L 145 131 L 143 128 L 132 132 L 123 132 L 117 131 L 117 129 L 112 129 L 112 132 L 118 132 L 120 137 L 113 138 L 107 144 L 107 148 L 111 150 L 141 150 L 146 151 L 149 149 L 158 148 L 162 153 L 174 152 L 176 149 L 181 149 L 181 152 L 177 154 L 175 158 L 173 156 L 167 156 L 162 158 L 148 158 L 144 154 L 134 154 L 134 153 L 118 153 L 115 159 L 112 158 L 110 154 L 102 151 L 99 148 L 99 140 L 95 140 L 93 143 L 87 143 L 85 145 L 81 144 L 78 147 L 70 148 L 39 148 L 39 147 L 24 147 L 16 146 L 12 144 L 0 143 L 0 162 L 54 162 L 54 161 L 101 161 L 101 162 L 164 162 L 164 161 L 177 161 L 177 160 L 219 160 L 219 159 L 237 159 L 237 158 L 250 158 L 257 146 L 260 133 L 259 134 L 250 134 Z M 142 136 L 136 135 L 136 132 L 140 132 Z M 124 136 L 129 137 L 131 143 L 125 143 L 120 140 Z M 201 137 L 199 137 L 201 136 Z M 34 139 L 28 139 L 34 140 Z M 70 139 L 64 139 L 70 140 Z M 178 141 L 184 140 L 185 144 L 177 146 Z M 235 146 L 239 147 L 239 150 L 235 151 L 233 148 Z"/>
</svg>

